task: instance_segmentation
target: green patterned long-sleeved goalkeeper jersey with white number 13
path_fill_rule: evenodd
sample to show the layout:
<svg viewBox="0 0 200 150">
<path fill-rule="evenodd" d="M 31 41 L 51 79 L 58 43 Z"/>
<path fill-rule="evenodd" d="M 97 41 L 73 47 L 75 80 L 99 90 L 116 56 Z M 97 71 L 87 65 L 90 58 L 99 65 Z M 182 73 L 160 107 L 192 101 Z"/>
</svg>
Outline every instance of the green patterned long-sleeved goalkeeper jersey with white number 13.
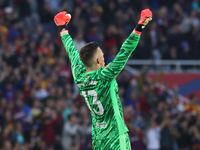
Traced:
<svg viewBox="0 0 200 150">
<path fill-rule="evenodd" d="M 61 37 L 69 55 L 74 81 L 92 115 L 92 138 L 112 138 L 127 132 L 116 77 L 135 50 L 140 36 L 131 33 L 107 67 L 87 73 L 70 35 L 66 33 Z"/>
</svg>

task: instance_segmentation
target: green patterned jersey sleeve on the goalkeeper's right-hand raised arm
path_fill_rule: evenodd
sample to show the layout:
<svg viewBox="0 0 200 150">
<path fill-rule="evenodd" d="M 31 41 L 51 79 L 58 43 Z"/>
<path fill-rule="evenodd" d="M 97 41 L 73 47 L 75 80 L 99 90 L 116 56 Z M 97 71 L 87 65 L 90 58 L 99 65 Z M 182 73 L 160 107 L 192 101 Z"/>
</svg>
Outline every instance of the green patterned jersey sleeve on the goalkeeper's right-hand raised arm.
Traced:
<svg viewBox="0 0 200 150">
<path fill-rule="evenodd" d="M 131 53 L 135 50 L 140 39 L 140 35 L 131 33 L 131 35 L 122 44 L 122 47 L 116 58 L 100 72 L 100 77 L 105 80 L 112 80 L 122 71 L 127 63 Z"/>
</svg>

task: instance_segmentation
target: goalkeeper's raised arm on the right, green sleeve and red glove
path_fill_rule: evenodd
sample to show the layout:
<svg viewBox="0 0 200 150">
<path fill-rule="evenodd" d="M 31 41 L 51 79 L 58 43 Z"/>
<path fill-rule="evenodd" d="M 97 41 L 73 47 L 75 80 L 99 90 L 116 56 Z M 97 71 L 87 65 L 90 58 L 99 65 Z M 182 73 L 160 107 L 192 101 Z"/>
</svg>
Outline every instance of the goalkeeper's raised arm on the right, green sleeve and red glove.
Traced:
<svg viewBox="0 0 200 150">
<path fill-rule="evenodd" d="M 112 80 L 117 77 L 117 75 L 122 71 L 126 62 L 128 61 L 131 53 L 137 47 L 140 39 L 140 34 L 144 27 L 152 20 L 152 13 L 149 9 L 145 9 L 141 12 L 140 20 L 131 33 L 131 35 L 122 44 L 122 47 L 117 54 L 116 58 L 108 65 L 108 67 L 103 68 L 100 72 L 100 77 L 105 80 Z"/>
</svg>

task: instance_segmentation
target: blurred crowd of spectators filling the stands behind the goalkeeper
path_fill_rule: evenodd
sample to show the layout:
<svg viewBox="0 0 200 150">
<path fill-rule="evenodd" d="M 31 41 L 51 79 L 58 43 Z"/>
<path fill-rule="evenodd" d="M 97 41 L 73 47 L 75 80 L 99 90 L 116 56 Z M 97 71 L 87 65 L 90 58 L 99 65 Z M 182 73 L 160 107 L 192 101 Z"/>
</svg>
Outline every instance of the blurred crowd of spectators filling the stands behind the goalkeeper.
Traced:
<svg viewBox="0 0 200 150">
<path fill-rule="evenodd" d="M 131 58 L 200 59 L 199 0 L 0 0 L 0 149 L 92 150 L 91 116 L 53 17 L 71 13 L 76 48 L 97 41 L 109 63 L 144 8 L 153 21 Z M 117 77 L 132 149 L 200 149 L 198 98 L 180 105 L 177 88 L 157 87 L 162 72 L 151 80 L 147 70 Z"/>
</svg>

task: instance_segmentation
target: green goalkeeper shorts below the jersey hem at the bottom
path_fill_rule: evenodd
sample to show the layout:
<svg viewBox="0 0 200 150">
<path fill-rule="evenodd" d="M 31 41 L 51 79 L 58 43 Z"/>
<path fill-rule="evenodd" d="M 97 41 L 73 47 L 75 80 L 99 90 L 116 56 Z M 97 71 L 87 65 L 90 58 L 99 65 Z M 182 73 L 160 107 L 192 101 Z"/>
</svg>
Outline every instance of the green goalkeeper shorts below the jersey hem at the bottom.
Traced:
<svg viewBox="0 0 200 150">
<path fill-rule="evenodd" d="M 131 150 L 128 133 L 108 139 L 93 140 L 93 150 Z"/>
</svg>

